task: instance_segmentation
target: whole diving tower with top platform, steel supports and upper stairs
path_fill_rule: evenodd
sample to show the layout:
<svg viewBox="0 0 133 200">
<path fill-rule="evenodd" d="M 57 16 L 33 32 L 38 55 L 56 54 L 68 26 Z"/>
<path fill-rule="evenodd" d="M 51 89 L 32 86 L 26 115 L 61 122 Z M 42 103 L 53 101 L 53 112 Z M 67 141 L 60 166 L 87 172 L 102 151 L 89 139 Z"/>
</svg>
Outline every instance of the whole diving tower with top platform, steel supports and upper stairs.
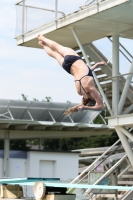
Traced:
<svg viewBox="0 0 133 200">
<path fill-rule="evenodd" d="M 36 37 L 42 34 L 64 46 L 80 49 L 79 54 L 89 66 L 92 61 L 104 60 L 107 63 L 107 66 L 99 68 L 93 72 L 93 75 L 110 113 L 108 124 L 115 128 L 126 152 L 119 162 L 123 162 L 128 157 L 129 165 L 133 167 L 133 151 L 129 142 L 133 141 L 131 134 L 133 127 L 133 87 L 131 85 L 133 56 L 119 42 L 120 37 L 133 39 L 133 0 L 84 1 L 78 11 L 58 19 L 57 2 L 56 0 L 55 20 L 49 23 L 44 22 L 43 26 L 29 32 L 24 30 L 16 36 L 17 45 L 40 48 Z M 24 3 L 26 3 L 25 0 L 23 1 L 23 12 Z M 25 27 L 24 14 L 22 19 L 23 27 Z M 93 41 L 104 37 L 108 37 L 112 42 L 112 56 L 109 59 L 92 44 Z M 120 47 L 123 47 L 130 59 Z M 130 62 L 126 79 L 125 74 L 120 74 L 120 52 Z M 105 76 L 98 78 L 99 74 Z"/>
</svg>

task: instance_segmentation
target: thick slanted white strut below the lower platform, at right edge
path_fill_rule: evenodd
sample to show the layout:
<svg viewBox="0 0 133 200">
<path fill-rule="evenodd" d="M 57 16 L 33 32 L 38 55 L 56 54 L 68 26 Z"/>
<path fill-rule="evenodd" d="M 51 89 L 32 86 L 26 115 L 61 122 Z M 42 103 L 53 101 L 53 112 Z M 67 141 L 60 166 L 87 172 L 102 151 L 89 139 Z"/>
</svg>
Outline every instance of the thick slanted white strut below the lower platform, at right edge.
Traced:
<svg viewBox="0 0 133 200">
<path fill-rule="evenodd" d="M 129 161 L 131 163 L 131 165 L 133 166 L 133 151 L 132 148 L 130 146 L 130 144 L 128 143 L 127 137 L 123 134 L 123 132 L 119 129 L 119 127 L 115 127 L 117 134 L 121 140 L 121 143 L 125 149 L 125 152 L 129 158 Z"/>
</svg>

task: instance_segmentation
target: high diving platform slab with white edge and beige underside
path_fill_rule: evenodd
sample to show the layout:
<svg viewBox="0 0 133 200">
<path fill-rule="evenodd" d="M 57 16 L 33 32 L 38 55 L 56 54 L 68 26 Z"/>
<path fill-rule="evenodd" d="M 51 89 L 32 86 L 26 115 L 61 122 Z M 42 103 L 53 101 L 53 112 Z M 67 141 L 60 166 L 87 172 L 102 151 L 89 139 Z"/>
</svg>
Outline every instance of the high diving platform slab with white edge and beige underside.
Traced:
<svg viewBox="0 0 133 200">
<path fill-rule="evenodd" d="M 42 34 L 63 46 L 77 47 L 71 28 L 75 28 L 82 44 L 118 34 L 123 38 L 133 39 L 133 0 L 103 0 L 93 1 L 94 4 L 81 6 L 79 10 L 63 17 L 50 21 L 44 20 L 40 27 L 27 28 L 28 18 L 26 9 L 32 9 L 26 4 L 23 6 L 22 23 L 19 34 L 16 35 L 17 45 L 41 48 L 38 45 L 37 35 Z M 71 6 L 71 3 L 68 3 Z M 37 9 L 37 8 L 36 8 Z M 42 8 L 43 9 L 43 8 Z M 45 11 L 45 10 L 44 10 Z M 34 9 L 33 9 L 34 13 Z M 48 12 L 48 15 L 50 12 Z M 24 17 L 25 16 L 25 17 Z M 31 19 L 32 20 L 32 19 Z M 39 19 L 38 19 L 39 20 Z M 16 30 L 16 33 L 18 31 Z M 60 37 L 61 36 L 61 37 Z"/>
</svg>

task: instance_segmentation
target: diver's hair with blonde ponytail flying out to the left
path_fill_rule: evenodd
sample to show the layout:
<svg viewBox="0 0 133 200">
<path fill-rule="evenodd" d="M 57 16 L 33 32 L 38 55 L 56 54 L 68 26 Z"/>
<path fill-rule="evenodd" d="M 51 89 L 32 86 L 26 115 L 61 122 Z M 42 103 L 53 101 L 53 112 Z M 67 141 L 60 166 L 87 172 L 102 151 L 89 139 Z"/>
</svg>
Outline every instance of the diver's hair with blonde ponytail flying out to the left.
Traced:
<svg viewBox="0 0 133 200">
<path fill-rule="evenodd" d="M 78 107 L 79 106 L 95 106 L 96 105 L 96 101 L 95 100 L 92 100 L 90 98 L 88 99 L 84 99 L 84 97 L 82 98 L 82 102 L 81 104 L 77 105 L 77 106 L 73 106 L 71 108 L 68 108 L 65 112 L 64 112 L 64 115 L 65 116 L 69 116 L 70 114 L 72 113 L 75 113 L 75 112 L 78 112 Z"/>
</svg>

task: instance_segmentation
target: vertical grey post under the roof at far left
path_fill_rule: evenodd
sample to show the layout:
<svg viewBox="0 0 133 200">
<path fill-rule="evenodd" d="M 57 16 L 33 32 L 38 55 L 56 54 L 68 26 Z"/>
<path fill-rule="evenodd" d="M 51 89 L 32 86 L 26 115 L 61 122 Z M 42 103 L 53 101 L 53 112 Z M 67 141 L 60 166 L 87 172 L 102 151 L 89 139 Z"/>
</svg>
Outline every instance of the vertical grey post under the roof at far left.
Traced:
<svg viewBox="0 0 133 200">
<path fill-rule="evenodd" d="M 4 177 L 9 176 L 9 146 L 10 146 L 9 132 L 6 131 L 4 139 L 4 160 L 3 160 Z"/>
</svg>

